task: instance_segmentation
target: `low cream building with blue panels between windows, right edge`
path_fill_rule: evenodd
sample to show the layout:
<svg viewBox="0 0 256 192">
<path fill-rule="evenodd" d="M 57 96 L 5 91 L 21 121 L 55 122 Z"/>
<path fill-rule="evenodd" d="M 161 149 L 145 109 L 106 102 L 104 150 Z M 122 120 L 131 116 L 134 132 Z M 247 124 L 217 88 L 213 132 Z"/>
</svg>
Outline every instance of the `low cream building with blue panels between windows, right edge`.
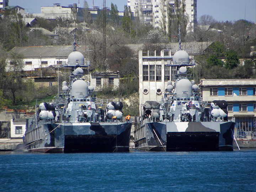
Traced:
<svg viewBox="0 0 256 192">
<path fill-rule="evenodd" d="M 228 117 L 236 122 L 236 134 L 256 131 L 256 79 L 202 79 L 203 100 L 228 102 Z"/>
</svg>

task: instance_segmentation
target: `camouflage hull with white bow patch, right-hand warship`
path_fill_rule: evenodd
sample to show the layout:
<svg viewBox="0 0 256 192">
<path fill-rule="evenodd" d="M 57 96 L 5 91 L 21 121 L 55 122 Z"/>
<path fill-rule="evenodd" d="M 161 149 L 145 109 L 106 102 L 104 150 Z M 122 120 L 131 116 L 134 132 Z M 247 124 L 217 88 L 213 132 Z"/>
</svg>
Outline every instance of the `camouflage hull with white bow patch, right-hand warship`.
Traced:
<svg viewBox="0 0 256 192">
<path fill-rule="evenodd" d="M 233 150 L 234 122 L 149 122 L 134 131 L 135 148 L 149 151 Z"/>
</svg>

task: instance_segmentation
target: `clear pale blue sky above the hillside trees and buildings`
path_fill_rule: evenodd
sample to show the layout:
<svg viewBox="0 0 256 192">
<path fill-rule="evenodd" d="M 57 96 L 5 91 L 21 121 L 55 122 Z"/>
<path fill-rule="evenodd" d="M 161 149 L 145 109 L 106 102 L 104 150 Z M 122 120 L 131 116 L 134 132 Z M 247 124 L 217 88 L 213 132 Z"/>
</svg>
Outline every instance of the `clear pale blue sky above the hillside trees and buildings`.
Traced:
<svg viewBox="0 0 256 192">
<path fill-rule="evenodd" d="M 87 0 L 89 7 L 92 7 L 92 0 Z M 116 4 L 119 11 L 123 11 L 127 0 L 106 0 L 106 6 L 110 7 L 111 2 Z M 19 5 L 26 12 L 40 13 L 41 6 L 53 6 L 53 3 L 60 3 L 67 6 L 73 3 L 78 4 L 79 0 L 9 0 L 9 5 Z M 84 0 L 80 0 L 80 7 L 83 7 Z M 94 0 L 94 6 L 102 7 L 103 0 Z M 197 0 L 197 18 L 201 15 L 212 15 L 217 21 L 236 21 L 246 19 L 252 22 L 256 20 L 255 0 Z"/>
</svg>

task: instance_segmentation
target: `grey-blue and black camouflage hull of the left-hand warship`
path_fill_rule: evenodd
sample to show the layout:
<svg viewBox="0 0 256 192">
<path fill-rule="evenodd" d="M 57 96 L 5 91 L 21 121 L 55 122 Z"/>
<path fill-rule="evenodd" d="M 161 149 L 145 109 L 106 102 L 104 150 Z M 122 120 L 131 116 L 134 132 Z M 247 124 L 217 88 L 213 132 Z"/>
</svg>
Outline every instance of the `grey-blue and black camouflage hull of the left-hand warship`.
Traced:
<svg viewBox="0 0 256 192">
<path fill-rule="evenodd" d="M 25 134 L 28 150 L 42 153 L 129 151 L 132 123 L 51 123 Z"/>
</svg>

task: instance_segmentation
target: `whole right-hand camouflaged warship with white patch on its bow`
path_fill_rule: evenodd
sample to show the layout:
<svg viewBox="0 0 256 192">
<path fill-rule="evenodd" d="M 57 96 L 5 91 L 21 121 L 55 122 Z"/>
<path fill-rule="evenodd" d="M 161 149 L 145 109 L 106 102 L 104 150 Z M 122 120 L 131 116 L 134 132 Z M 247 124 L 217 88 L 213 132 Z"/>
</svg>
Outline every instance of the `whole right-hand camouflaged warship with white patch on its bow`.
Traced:
<svg viewBox="0 0 256 192">
<path fill-rule="evenodd" d="M 192 65 L 180 46 L 171 64 L 176 69 L 175 81 L 167 82 L 160 100 L 140 105 L 140 120 L 134 131 L 135 149 L 233 150 L 235 123 L 228 121 L 227 102 L 202 100 L 199 86 L 189 80 L 187 68 Z"/>
</svg>

